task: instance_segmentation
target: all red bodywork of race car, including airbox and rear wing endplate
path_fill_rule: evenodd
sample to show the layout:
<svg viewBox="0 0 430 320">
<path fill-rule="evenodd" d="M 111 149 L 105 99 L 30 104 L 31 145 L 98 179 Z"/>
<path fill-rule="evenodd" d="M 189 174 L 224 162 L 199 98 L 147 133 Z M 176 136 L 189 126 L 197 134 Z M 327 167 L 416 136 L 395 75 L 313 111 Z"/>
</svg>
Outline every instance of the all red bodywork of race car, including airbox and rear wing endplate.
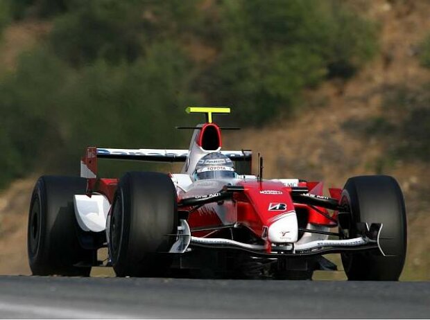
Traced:
<svg viewBox="0 0 430 320">
<path fill-rule="evenodd" d="M 200 133 L 196 136 L 196 143 L 204 150 L 217 150 L 221 147 L 221 130 L 215 123 L 206 123 L 201 127 Z M 207 148 L 205 147 L 207 146 Z M 94 174 L 94 178 L 88 177 L 87 194 L 102 193 L 113 202 L 114 192 L 117 188 L 119 179 L 95 178 L 97 174 L 96 148 L 87 148 L 87 152 L 82 159 L 89 170 L 89 175 Z M 336 226 L 333 220 L 318 213 L 318 211 L 329 215 L 325 208 L 316 208 L 307 204 L 294 203 L 291 197 L 291 187 L 285 186 L 281 182 L 263 181 L 239 181 L 238 186 L 243 186 L 243 192 L 234 193 L 232 200 L 225 200 L 221 203 L 205 204 L 192 211 L 192 208 L 182 208 L 191 211 L 188 224 L 191 233 L 196 237 L 216 238 L 218 230 L 193 231 L 193 229 L 203 227 L 219 227 L 223 225 L 240 224 L 245 226 L 258 238 L 266 239 L 268 226 L 275 222 L 276 217 L 295 211 L 298 220 L 302 222 L 302 228 L 307 224 Z M 305 187 L 313 195 L 323 195 L 323 184 L 320 181 L 306 182 L 301 181 L 299 187 Z M 266 191 L 266 192 L 265 192 Z M 270 192 L 268 192 L 270 191 Z M 331 188 L 329 193 L 332 198 L 340 199 L 341 189 Z M 178 201 L 181 199 L 178 198 Z M 279 210 L 269 210 L 270 206 L 282 205 Z M 332 217 L 336 219 L 337 213 Z M 305 222 L 305 223 L 303 223 Z M 267 248 L 270 251 L 270 246 Z"/>
</svg>

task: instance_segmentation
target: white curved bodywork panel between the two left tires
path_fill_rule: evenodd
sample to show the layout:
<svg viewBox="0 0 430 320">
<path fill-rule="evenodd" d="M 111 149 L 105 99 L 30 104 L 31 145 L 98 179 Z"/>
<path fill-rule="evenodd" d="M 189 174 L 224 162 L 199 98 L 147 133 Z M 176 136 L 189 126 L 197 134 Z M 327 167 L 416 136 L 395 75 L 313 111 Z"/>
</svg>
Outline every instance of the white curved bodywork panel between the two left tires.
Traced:
<svg viewBox="0 0 430 320">
<path fill-rule="evenodd" d="M 83 231 L 101 232 L 106 229 L 107 213 L 110 203 L 104 195 L 75 195 L 76 220 Z"/>
</svg>

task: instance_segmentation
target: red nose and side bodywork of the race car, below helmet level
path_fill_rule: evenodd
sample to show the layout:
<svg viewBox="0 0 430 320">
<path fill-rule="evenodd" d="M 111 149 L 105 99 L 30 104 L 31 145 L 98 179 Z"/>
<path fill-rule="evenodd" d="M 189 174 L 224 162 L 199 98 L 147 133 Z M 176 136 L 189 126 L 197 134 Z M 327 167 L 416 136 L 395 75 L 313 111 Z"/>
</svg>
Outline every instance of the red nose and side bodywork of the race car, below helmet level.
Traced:
<svg viewBox="0 0 430 320">
<path fill-rule="evenodd" d="M 114 192 L 117 188 L 119 179 L 97 179 L 96 192 L 102 193 L 112 204 Z M 235 193 L 233 201 L 225 201 L 222 204 L 205 204 L 198 210 L 189 215 L 188 223 L 192 229 L 199 227 L 222 226 L 228 224 L 240 224 L 246 226 L 258 238 L 266 238 L 268 226 L 273 223 L 273 217 L 279 213 L 295 211 L 298 219 L 300 215 L 307 217 L 307 223 L 336 226 L 332 220 L 318 213 L 314 208 L 307 204 L 297 204 L 291 199 L 291 187 L 275 181 L 241 181 L 239 186 L 243 186 L 243 193 Z M 309 188 L 309 193 L 322 195 L 322 182 L 300 182 L 300 186 Z M 277 191 L 279 194 L 265 194 L 261 191 Z M 331 188 L 330 195 L 336 199 L 340 197 L 341 189 Z M 179 201 L 180 199 L 178 199 Z M 270 204 L 285 204 L 286 208 L 282 211 L 268 210 Z M 187 210 L 187 208 L 184 208 Z M 191 209 L 191 208 L 189 208 Z M 327 209 L 318 207 L 324 213 L 329 214 Z M 223 219 L 221 220 L 221 217 Z M 336 213 L 332 215 L 336 218 Z M 304 225 L 303 227 L 305 227 Z M 196 237 L 216 238 L 218 231 L 193 231 Z M 267 247 L 270 251 L 270 246 Z"/>
</svg>

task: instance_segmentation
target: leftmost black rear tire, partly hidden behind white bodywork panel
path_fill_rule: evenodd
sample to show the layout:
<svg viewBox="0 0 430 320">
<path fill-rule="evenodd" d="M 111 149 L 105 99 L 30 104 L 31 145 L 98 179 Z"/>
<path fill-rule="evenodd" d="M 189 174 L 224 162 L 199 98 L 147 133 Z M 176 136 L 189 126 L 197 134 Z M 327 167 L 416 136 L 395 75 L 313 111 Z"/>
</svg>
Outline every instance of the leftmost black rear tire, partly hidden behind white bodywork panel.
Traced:
<svg viewBox="0 0 430 320">
<path fill-rule="evenodd" d="M 74 195 L 85 193 L 86 179 L 43 176 L 37 180 L 28 214 L 27 249 L 37 276 L 89 276 L 94 252 L 80 247 Z"/>
</svg>

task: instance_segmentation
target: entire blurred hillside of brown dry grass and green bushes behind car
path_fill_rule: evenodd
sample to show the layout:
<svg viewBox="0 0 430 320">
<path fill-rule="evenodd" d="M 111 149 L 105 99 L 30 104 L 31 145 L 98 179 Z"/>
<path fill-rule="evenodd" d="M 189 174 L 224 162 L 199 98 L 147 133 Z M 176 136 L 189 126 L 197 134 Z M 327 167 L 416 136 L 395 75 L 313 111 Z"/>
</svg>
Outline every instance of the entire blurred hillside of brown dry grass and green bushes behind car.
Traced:
<svg viewBox="0 0 430 320">
<path fill-rule="evenodd" d="M 1 158 L 12 163 L 12 167 L 3 163 L 3 168 L 10 168 L 3 181 L 26 176 L 35 168 L 37 175 L 55 166 L 55 170 L 76 171 L 83 146 L 93 143 L 186 147 L 188 136 L 172 134 L 171 127 L 191 125 L 199 118 L 183 118 L 184 105 L 225 103 L 234 107 L 232 123 L 245 127 L 225 134 L 225 148 L 261 152 L 265 177 L 322 179 L 327 187 L 342 187 L 353 175 L 396 177 L 408 211 L 408 256 L 402 280 L 430 279 L 428 1 L 289 1 L 289 10 L 273 6 L 273 12 L 264 15 L 256 13 L 269 10 L 258 6 L 261 1 L 246 5 L 186 1 L 183 10 L 130 1 L 146 6 L 138 15 L 145 22 L 127 21 L 127 27 L 114 17 L 107 19 L 115 21 L 112 24 L 87 19 L 87 10 L 96 10 L 94 18 L 111 15 L 107 9 L 75 10 L 78 1 L 53 2 L 62 6 L 44 7 L 49 0 L 22 1 L 24 9 L 3 20 L 7 22 L 0 70 L 8 72 L 1 75 L 0 108 L 7 107 L 10 113 L 0 120 L 5 130 L 0 143 L 15 154 Z M 98 39 L 107 44 L 97 42 L 94 47 L 71 35 L 65 37 L 66 44 L 58 40 L 65 30 L 85 33 L 83 22 L 89 20 L 92 26 L 137 30 L 139 37 L 135 41 L 128 33 L 126 53 L 109 46 L 110 38 Z M 334 26 L 328 28 L 329 23 Z M 60 42 L 55 45 L 55 41 Z M 63 45 L 70 47 L 63 52 Z M 67 55 L 83 48 L 91 53 L 89 60 Z M 17 55 L 21 51 L 25 52 Z M 117 58 L 123 54 L 127 58 Z M 166 89 L 160 89 L 160 83 Z M 164 117 L 166 112 L 172 112 L 171 118 Z M 14 127 L 15 123 L 19 125 Z M 27 127 L 31 130 L 22 130 Z M 38 151 L 35 145 L 42 141 Z M 21 163 L 28 154 L 37 157 Z M 28 204 L 18 195 L 29 195 L 33 181 L 34 177 L 15 181 L 0 195 L 0 261 L 9 261 L 0 263 L 0 273 L 28 273 Z M 343 278 L 343 274 L 325 277 Z"/>
</svg>

